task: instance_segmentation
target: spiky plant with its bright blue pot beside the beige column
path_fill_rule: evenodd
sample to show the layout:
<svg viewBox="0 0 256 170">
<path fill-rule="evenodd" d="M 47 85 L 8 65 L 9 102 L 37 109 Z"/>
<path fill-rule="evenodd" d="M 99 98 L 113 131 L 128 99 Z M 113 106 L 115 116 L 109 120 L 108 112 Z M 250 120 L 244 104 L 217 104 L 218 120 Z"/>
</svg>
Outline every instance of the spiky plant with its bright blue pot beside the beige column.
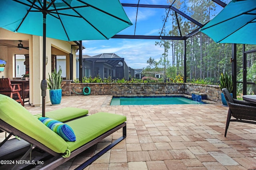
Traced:
<svg viewBox="0 0 256 170">
<path fill-rule="evenodd" d="M 56 71 L 56 68 L 54 68 L 54 71 L 51 73 L 51 75 L 48 73 L 49 78 L 47 79 L 47 85 L 50 89 L 50 101 L 52 105 L 58 105 L 61 102 L 61 96 L 62 96 L 62 70 L 61 67 L 59 71 Z"/>
</svg>

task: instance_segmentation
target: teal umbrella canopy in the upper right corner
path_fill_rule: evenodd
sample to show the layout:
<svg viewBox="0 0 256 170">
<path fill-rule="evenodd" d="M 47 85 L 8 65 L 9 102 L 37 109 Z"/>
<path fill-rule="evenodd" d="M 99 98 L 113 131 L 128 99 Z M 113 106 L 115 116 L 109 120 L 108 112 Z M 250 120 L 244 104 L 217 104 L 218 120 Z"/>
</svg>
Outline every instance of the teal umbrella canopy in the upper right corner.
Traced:
<svg viewBox="0 0 256 170">
<path fill-rule="evenodd" d="M 232 0 L 200 31 L 216 43 L 256 44 L 256 0 Z"/>
</svg>

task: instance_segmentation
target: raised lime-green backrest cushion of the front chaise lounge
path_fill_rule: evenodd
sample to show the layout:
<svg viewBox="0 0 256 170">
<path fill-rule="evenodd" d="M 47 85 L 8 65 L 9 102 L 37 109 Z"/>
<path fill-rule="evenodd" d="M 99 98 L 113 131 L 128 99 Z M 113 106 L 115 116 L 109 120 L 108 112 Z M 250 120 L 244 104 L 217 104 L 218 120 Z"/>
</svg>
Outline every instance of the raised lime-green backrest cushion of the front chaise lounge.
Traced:
<svg viewBox="0 0 256 170">
<path fill-rule="evenodd" d="M 64 153 L 68 145 L 28 110 L 8 96 L 0 94 L 0 119 L 22 131 L 57 153 Z"/>
</svg>

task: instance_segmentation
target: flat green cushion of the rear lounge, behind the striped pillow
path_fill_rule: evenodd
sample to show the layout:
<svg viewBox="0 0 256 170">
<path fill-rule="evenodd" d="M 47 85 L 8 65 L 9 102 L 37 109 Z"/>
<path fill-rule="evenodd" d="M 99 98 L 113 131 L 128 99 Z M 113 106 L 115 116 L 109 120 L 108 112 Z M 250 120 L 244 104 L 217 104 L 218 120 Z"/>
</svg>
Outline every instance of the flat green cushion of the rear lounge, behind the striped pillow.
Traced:
<svg viewBox="0 0 256 170">
<path fill-rule="evenodd" d="M 65 107 L 62 109 L 56 109 L 53 111 L 45 112 L 44 117 L 52 118 L 58 121 L 69 121 L 71 119 L 75 119 L 77 117 L 82 117 L 88 114 L 88 110 L 76 108 L 76 107 Z M 35 117 L 39 118 L 42 117 L 42 113 L 34 115 Z"/>
</svg>

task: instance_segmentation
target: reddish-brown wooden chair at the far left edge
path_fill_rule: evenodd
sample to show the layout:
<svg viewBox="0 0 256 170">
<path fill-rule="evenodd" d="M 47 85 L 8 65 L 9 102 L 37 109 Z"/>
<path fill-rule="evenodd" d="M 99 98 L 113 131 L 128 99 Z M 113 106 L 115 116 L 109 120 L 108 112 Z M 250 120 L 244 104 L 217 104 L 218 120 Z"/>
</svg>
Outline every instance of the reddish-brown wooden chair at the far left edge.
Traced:
<svg viewBox="0 0 256 170">
<path fill-rule="evenodd" d="M 11 84 L 10 78 L 0 78 L 0 94 L 4 94 L 10 98 L 17 97 L 18 99 L 16 101 L 24 106 L 20 92 L 20 84 Z"/>
</svg>

